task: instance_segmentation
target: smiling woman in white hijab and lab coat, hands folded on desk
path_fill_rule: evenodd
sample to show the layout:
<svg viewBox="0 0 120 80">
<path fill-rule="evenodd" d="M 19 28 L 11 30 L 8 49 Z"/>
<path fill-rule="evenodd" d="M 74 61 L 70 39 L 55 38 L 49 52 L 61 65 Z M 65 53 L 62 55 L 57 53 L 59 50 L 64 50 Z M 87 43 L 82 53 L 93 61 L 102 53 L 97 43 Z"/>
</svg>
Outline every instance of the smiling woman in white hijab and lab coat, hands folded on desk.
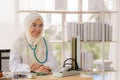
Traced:
<svg viewBox="0 0 120 80">
<path fill-rule="evenodd" d="M 12 72 L 46 72 L 57 68 L 53 51 L 42 36 L 44 21 L 37 12 L 24 21 L 25 32 L 14 42 L 10 52 L 9 68 Z"/>
</svg>

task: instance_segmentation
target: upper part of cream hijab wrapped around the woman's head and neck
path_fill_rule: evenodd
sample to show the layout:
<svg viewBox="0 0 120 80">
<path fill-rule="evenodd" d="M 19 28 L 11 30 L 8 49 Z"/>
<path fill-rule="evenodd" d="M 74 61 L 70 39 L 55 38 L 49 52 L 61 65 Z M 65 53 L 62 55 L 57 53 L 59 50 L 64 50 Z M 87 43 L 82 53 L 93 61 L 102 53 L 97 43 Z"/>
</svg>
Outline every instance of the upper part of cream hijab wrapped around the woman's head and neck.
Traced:
<svg viewBox="0 0 120 80">
<path fill-rule="evenodd" d="M 30 34 L 30 25 L 36 19 L 40 19 L 41 22 L 44 23 L 43 18 L 37 12 L 30 13 L 25 18 L 25 21 L 24 21 L 24 24 L 25 24 L 25 36 L 26 36 L 27 41 L 29 42 L 29 44 L 32 45 L 32 46 L 35 46 L 42 39 L 42 34 L 40 34 L 38 36 L 38 38 L 33 38 L 32 35 Z"/>
</svg>

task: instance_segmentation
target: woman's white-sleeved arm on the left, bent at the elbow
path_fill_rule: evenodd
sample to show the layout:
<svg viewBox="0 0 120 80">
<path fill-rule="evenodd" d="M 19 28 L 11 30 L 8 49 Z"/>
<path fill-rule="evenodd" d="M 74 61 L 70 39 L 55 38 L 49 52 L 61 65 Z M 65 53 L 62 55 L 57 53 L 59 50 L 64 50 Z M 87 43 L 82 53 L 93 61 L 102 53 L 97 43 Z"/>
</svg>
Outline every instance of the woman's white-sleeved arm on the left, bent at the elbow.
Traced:
<svg viewBox="0 0 120 80">
<path fill-rule="evenodd" d="M 19 46 L 15 44 L 10 51 L 9 68 L 12 72 L 30 72 L 29 65 L 22 63 Z"/>
</svg>

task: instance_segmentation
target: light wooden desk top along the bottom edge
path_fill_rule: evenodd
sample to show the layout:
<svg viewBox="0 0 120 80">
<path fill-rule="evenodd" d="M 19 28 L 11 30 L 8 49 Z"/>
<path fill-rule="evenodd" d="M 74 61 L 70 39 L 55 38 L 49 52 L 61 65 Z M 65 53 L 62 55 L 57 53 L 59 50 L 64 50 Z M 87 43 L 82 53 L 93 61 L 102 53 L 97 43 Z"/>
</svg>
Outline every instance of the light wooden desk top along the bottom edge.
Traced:
<svg viewBox="0 0 120 80">
<path fill-rule="evenodd" d="M 35 76 L 34 79 L 19 79 L 19 80 L 93 80 L 93 77 L 88 75 L 73 75 L 68 77 L 54 77 L 52 75 Z"/>
</svg>

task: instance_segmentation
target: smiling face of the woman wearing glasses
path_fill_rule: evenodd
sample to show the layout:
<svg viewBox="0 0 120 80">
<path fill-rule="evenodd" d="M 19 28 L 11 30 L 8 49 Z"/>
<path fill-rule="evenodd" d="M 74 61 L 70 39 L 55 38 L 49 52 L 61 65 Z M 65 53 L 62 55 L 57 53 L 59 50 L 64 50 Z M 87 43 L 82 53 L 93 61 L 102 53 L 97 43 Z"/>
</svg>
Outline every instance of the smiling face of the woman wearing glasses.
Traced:
<svg viewBox="0 0 120 80">
<path fill-rule="evenodd" d="M 40 19 L 36 19 L 32 22 L 30 25 L 30 34 L 32 35 L 33 38 L 38 38 L 38 36 L 42 33 L 43 31 L 43 23 Z"/>
</svg>

